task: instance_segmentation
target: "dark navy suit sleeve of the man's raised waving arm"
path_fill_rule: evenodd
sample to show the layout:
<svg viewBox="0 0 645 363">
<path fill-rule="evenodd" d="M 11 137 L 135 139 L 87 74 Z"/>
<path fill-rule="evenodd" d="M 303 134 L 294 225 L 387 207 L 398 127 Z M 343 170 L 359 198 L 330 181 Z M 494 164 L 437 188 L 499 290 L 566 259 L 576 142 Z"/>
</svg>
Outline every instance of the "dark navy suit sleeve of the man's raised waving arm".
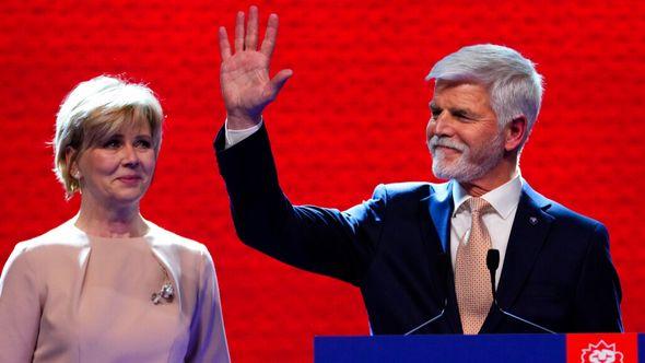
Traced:
<svg viewBox="0 0 645 363">
<path fill-rule="evenodd" d="M 360 284 L 377 247 L 386 212 L 385 188 L 344 212 L 293 206 L 282 192 L 266 128 L 215 151 L 239 238 L 289 265 Z"/>
</svg>

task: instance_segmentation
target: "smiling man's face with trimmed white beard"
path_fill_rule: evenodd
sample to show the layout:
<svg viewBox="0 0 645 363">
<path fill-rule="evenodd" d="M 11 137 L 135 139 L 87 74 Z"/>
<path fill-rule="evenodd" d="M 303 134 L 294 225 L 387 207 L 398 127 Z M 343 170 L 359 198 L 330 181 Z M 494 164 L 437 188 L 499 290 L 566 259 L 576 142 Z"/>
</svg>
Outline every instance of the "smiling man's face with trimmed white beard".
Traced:
<svg viewBox="0 0 645 363">
<path fill-rule="evenodd" d="M 430 109 L 427 147 L 437 178 L 473 182 L 500 164 L 504 133 L 484 86 L 437 81 Z"/>
</svg>

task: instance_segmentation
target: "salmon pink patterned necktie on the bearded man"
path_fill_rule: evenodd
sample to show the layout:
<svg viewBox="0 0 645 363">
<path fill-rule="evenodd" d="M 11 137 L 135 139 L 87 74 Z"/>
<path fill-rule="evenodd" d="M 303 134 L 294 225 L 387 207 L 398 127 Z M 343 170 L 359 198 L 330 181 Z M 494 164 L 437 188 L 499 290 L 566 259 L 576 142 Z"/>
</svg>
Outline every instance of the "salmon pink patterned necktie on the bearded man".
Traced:
<svg viewBox="0 0 645 363">
<path fill-rule="evenodd" d="M 478 333 L 493 303 L 491 280 L 486 268 L 486 254 L 491 248 L 491 235 L 481 216 L 493 211 L 482 198 L 466 201 L 470 208 L 472 224 L 468 244 L 459 243 L 455 264 L 455 290 L 464 333 Z"/>
</svg>

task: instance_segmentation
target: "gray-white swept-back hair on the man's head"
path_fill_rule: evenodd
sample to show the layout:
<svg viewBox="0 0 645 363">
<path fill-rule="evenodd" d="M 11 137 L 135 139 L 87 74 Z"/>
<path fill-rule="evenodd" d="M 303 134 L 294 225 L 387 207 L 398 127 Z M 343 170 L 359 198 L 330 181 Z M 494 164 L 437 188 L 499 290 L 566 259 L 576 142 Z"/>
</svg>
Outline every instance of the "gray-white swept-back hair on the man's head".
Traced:
<svg viewBox="0 0 645 363">
<path fill-rule="evenodd" d="M 542 75 L 532 61 L 508 47 L 480 44 L 464 47 L 439 60 L 426 81 L 474 82 L 489 90 L 491 107 L 500 127 L 525 116 L 528 136 L 538 118 L 542 103 Z"/>
</svg>

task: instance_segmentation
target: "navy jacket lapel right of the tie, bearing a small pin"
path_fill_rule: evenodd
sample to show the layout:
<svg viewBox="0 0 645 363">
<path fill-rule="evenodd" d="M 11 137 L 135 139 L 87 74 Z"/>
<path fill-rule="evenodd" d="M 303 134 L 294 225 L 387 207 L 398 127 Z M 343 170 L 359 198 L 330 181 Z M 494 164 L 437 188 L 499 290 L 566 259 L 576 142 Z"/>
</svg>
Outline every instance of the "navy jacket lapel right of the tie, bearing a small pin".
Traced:
<svg viewBox="0 0 645 363">
<path fill-rule="evenodd" d="M 553 218 L 544 211 L 551 202 L 537 194 L 524 182 L 517 213 L 508 237 L 502 276 L 497 284 L 497 303 L 513 312 L 513 303 L 520 293 L 526 279 L 542 248 Z M 492 332 L 502 320 L 501 314 L 489 314 L 482 332 Z"/>
</svg>

